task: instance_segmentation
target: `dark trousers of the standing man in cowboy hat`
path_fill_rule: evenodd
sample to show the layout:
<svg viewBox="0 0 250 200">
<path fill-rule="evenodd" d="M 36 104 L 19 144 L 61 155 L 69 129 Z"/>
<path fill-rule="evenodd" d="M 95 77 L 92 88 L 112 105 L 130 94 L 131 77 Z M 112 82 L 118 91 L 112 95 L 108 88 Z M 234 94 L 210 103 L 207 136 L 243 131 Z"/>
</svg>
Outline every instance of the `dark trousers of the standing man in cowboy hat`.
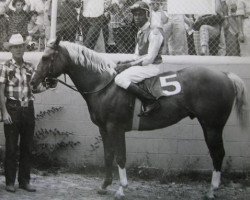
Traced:
<svg viewBox="0 0 250 200">
<path fill-rule="evenodd" d="M 18 137 L 20 135 L 19 184 L 30 181 L 31 152 L 35 128 L 34 105 L 29 101 L 28 107 L 22 107 L 20 101 L 7 99 L 6 108 L 12 124 L 4 124 L 6 139 L 5 179 L 6 185 L 14 185 L 17 171 Z"/>
</svg>

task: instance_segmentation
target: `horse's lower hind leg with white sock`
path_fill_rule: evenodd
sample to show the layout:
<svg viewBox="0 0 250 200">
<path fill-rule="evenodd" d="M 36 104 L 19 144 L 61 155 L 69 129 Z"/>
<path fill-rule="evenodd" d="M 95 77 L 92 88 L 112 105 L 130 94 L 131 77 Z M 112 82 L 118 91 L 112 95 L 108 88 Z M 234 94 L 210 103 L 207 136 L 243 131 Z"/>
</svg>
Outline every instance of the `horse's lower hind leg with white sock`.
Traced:
<svg viewBox="0 0 250 200">
<path fill-rule="evenodd" d="M 221 180 L 221 167 L 225 150 L 222 139 L 223 127 L 204 127 L 204 136 L 210 156 L 213 161 L 214 171 L 212 174 L 211 187 L 207 193 L 208 198 L 214 198 L 214 190 L 218 189 Z"/>
</svg>

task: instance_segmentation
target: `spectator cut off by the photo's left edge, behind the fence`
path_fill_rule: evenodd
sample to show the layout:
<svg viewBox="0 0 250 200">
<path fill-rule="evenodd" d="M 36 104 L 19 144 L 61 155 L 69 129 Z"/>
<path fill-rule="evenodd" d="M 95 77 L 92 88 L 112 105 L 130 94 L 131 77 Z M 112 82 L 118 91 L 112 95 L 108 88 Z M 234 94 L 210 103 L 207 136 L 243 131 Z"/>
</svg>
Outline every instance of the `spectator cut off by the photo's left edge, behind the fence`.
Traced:
<svg viewBox="0 0 250 200">
<path fill-rule="evenodd" d="M 3 43 L 8 41 L 8 26 L 9 22 L 5 14 L 11 0 L 0 1 L 0 51 L 3 51 Z"/>
</svg>

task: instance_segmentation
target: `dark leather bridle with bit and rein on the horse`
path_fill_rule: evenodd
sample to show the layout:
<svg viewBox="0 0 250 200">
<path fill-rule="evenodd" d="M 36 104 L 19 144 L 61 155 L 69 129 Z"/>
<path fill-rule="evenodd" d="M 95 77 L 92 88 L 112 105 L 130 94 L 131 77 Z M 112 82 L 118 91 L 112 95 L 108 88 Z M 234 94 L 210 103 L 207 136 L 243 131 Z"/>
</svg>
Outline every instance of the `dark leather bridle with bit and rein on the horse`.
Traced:
<svg viewBox="0 0 250 200">
<path fill-rule="evenodd" d="M 66 83 L 66 74 L 65 73 L 64 73 L 64 81 L 61 81 L 60 79 L 53 77 L 53 75 L 52 75 L 53 74 L 53 64 L 54 64 L 55 57 L 58 54 L 58 50 L 57 50 L 58 44 L 56 45 L 56 47 L 54 45 L 48 45 L 47 47 L 51 48 L 52 50 L 54 50 L 54 52 L 53 52 L 53 54 L 52 54 L 52 56 L 50 58 L 48 75 L 44 79 L 46 86 L 49 86 L 48 83 L 49 83 L 50 80 L 54 80 L 54 81 L 57 81 L 57 82 L 65 85 L 65 86 L 67 86 L 68 88 L 70 88 L 70 89 L 72 89 L 72 90 L 74 90 L 76 92 L 79 92 L 75 88 L 75 86 L 72 86 L 72 85 L 69 85 L 69 84 Z M 101 89 L 90 91 L 90 92 L 82 92 L 82 94 L 88 95 L 88 94 L 95 94 L 95 93 L 101 92 L 106 87 L 108 87 L 109 85 L 111 85 L 111 83 L 114 81 L 114 78 L 115 78 L 115 76 L 105 86 L 103 86 Z"/>
</svg>

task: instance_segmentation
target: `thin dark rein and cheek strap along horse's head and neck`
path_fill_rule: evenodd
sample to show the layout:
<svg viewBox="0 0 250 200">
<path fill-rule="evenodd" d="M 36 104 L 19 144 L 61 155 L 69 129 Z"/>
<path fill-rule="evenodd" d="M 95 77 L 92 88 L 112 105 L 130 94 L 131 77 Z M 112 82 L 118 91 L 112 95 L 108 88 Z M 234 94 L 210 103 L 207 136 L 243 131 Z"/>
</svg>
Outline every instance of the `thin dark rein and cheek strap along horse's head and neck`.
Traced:
<svg viewBox="0 0 250 200">
<path fill-rule="evenodd" d="M 66 83 L 66 77 L 65 77 L 65 81 L 61 81 L 59 80 L 58 78 L 53 78 L 52 76 L 52 72 L 53 72 L 53 62 L 54 62 L 54 59 L 55 59 L 55 55 L 58 53 L 58 51 L 56 50 L 56 48 L 54 46 L 47 46 L 53 50 L 55 50 L 55 52 L 53 53 L 51 59 L 50 59 L 50 64 L 49 64 L 49 73 L 48 73 L 48 79 L 54 79 L 54 80 L 57 80 L 59 83 L 67 86 L 68 88 L 76 91 L 76 92 L 79 92 L 77 89 L 75 89 L 73 86 L 69 85 Z M 94 91 L 90 91 L 90 92 L 82 92 L 84 95 L 88 95 L 88 94 L 95 94 L 95 93 L 98 93 L 98 92 L 101 92 L 102 90 L 104 90 L 106 87 L 109 87 L 111 85 L 111 83 L 114 81 L 115 79 L 115 76 L 105 85 L 103 86 L 102 88 L 98 89 L 98 90 L 94 90 Z"/>
</svg>

